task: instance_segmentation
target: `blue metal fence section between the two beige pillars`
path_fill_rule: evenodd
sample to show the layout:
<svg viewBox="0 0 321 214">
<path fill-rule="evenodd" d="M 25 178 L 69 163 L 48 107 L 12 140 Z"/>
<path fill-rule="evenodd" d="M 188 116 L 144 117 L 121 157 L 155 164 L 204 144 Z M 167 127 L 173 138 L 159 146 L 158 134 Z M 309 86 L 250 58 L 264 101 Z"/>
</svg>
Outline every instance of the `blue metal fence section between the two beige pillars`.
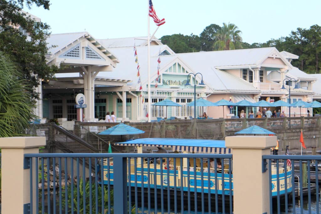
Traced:
<svg viewBox="0 0 321 214">
<path fill-rule="evenodd" d="M 36 213 L 48 214 L 232 213 L 230 154 L 42 153 L 24 157 L 25 167 L 30 168 L 30 213 L 33 206 Z M 208 164 L 211 160 L 213 168 Z"/>
</svg>

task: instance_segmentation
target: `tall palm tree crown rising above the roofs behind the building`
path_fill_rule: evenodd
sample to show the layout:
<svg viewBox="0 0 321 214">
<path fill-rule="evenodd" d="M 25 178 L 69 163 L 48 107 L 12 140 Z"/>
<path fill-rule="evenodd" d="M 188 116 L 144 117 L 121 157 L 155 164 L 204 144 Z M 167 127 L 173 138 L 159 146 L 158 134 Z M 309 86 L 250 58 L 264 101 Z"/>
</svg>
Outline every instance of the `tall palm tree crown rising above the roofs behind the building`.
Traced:
<svg viewBox="0 0 321 214">
<path fill-rule="evenodd" d="M 213 44 L 214 50 L 234 50 L 242 48 L 242 31 L 232 23 L 223 23 L 223 27 L 217 31 L 216 42 Z"/>
</svg>

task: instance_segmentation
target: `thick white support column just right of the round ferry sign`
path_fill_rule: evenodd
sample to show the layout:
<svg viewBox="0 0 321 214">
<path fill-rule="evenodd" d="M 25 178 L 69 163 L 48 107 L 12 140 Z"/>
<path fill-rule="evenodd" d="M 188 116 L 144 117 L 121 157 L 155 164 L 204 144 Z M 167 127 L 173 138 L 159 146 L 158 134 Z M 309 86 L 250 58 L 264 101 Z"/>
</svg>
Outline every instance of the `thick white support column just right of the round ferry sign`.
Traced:
<svg viewBox="0 0 321 214">
<path fill-rule="evenodd" d="M 87 107 L 85 108 L 85 120 L 92 121 L 95 118 L 95 80 L 92 77 L 91 66 L 87 67 L 87 73 L 84 74 L 84 95 Z"/>
</svg>

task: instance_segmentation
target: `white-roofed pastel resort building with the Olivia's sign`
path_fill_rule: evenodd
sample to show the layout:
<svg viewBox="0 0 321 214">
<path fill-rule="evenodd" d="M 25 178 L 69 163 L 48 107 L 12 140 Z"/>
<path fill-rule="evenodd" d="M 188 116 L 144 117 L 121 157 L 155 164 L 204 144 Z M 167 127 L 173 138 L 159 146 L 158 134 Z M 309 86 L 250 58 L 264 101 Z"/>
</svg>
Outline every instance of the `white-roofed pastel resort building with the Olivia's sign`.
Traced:
<svg viewBox="0 0 321 214">
<path fill-rule="evenodd" d="M 138 82 L 134 44 L 140 65 L 141 83 Z M 192 86 L 185 86 L 189 73 L 196 75 L 196 98 L 216 102 L 222 98 L 233 102 L 242 99 L 256 102 L 312 101 L 314 75 L 306 74 L 291 65 L 298 56 L 274 47 L 211 51 L 176 54 L 160 41 L 151 42 L 151 100 L 147 99 L 147 41 L 137 38 L 96 39 L 88 32 L 53 34 L 48 39 L 50 53 L 48 64 L 63 64 L 64 69 L 56 73 L 56 80 L 43 81 L 39 86 L 42 100 L 39 100 L 37 114 L 41 118 L 77 118 L 74 107 L 75 96 L 83 93 L 87 107 L 84 117 L 87 121 L 105 119 L 107 112 L 114 111 L 118 121 L 146 121 L 148 102 L 156 103 L 165 98 L 182 107 L 152 106 L 152 120 L 156 117 L 194 117 L 194 107 L 186 104 L 194 100 L 194 75 L 189 75 Z M 160 56 L 160 78 L 157 78 Z M 284 81 L 286 90 L 281 90 Z M 294 89 L 296 83 L 300 88 Z M 321 94 L 321 92 L 320 92 Z M 141 96 L 142 95 L 142 96 Z M 241 109 L 256 112 L 257 107 L 204 107 L 209 117 L 230 117 L 239 115 Z M 273 108 L 275 109 L 275 108 Z M 273 110 L 271 109 L 271 110 Z M 280 109 L 280 108 L 279 108 Z M 288 108 L 282 107 L 288 114 Z M 203 110 L 202 110 L 203 111 Z M 199 115 L 200 108 L 197 108 Z M 291 116 L 298 115 L 299 108 L 291 108 Z M 307 115 L 307 109 L 301 109 Z"/>
</svg>

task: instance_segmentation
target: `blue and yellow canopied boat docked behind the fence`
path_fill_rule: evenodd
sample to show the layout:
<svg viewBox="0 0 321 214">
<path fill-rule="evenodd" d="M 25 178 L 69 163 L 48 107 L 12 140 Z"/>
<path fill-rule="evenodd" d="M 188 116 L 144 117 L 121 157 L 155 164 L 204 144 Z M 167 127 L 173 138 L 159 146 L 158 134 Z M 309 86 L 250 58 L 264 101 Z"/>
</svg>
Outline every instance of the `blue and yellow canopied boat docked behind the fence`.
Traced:
<svg viewBox="0 0 321 214">
<path fill-rule="evenodd" d="M 134 146 L 137 153 L 157 152 L 157 147 L 184 154 L 232 153 L 231 149 L 225 147 L 225 141 L 222 140 L 143 138 L 115 143 L 115 145 Z M 170 188 L 183 190 L 184 192 L 210 192 L 211 194 L 233 195 L 233 173 L 230 164 L 231 161 L 229 160 L 222 159 L 222 168 L 208 166 L 209 158 L 195 158 L 195 160 L 194 158 L 190 160 L 188 160 L 188 158 L 175 158 L 175 163 L 174 158 L 162 158 L 159 159 L 156 164 L 154 164 L 153 160 L 156 159 L 131 158 L 130 164 L 128 163 L 128 166 L 130 166 L 127 177 L 128 185 L 131 187 Z M 152 161 L 152 163 L 150 161 Z M 169 164 L 167 164 L 167 161 Z M 109 184 L 112 185 L 114 181 L 112 161 L 109 161 L 109 166 L 107 161 L 104 161 L 103 169 L 104 184 L 108 184 L 109 182 Z M 287 167 L 286 169 L 283 167 L 276 168 L 276 166 L 272 164 L 272 196 L 277 195 L 277 170 L 279 171 L 280 195 L 285 194 L 285 188 L 287 188 L 287 193 L 291 193 L 291 167 Z M 287 176 L 286 187 L 285 176 Z"/>
</svg>

